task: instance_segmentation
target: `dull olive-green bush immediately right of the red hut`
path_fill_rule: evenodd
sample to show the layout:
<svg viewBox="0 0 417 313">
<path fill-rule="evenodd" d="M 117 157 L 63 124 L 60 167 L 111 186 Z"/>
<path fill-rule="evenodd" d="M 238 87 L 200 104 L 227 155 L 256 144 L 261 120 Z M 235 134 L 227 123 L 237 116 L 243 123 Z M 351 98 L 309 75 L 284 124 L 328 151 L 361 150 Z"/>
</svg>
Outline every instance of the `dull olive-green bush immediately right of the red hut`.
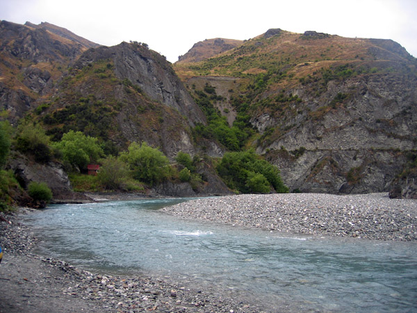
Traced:
<svg viewBox="0 0 417 313">
<path fill-rule="evenodd" d="M 97 179 L 106 189 L 119 189 L 129 175 L 128 165 L 116 157 L 109 156 L 101 160 Z"/>
</svg>

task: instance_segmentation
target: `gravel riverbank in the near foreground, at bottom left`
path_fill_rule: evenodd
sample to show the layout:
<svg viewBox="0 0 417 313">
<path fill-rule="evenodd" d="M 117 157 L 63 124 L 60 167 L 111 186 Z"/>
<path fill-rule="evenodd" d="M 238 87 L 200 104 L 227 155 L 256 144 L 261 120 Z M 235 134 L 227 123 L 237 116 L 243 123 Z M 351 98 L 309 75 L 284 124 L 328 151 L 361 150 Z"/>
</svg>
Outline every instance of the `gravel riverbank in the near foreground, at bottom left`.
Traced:
<svg viewBox="0 0 417 313">
<path fill-rule="evenodd" d="M 19 224 L 19 214 L 0 214 L 1 313 L 272 312 L 263 303 L 192 286 L 185 280 L 90 273 L 35 255 L 38 239 Z M 293 311 L 286 305 L 281 310 Z"/>
</svg>

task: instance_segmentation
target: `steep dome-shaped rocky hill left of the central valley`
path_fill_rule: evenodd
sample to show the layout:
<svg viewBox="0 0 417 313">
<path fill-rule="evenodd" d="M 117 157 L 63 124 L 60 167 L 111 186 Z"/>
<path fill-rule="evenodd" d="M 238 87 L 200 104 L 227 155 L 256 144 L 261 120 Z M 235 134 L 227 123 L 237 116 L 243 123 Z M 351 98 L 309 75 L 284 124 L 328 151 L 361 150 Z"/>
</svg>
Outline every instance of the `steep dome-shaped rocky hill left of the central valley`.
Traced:
<svg viewBox="0 0 417 313">
<path fill-rule="evenodd" d="M 85 51 L 57 95 L 40 114 L 49 134 L 76 129 L 122 149 L 146 141 L 171 159 L 179 151 L 197 153 L 191 128 L 206 122 L 204 113 L 165 58 L 143 45 Z"/>
</svg>

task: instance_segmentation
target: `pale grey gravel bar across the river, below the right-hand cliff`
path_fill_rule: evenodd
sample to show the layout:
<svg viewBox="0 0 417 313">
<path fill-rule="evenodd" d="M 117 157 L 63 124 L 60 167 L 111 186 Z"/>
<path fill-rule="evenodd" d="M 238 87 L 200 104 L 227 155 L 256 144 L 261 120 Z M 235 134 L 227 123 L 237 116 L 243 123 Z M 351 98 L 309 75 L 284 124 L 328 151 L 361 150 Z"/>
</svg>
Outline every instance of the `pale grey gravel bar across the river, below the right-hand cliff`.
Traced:
<svg viewBox="0 0 417 313">
<path fill-rule="evenodd" d="M 275 193 L 200 198 L 161 211 L 181 218 L 293 234 L 416 241 L 417 200 L 388 193 Z"/>
</svg>

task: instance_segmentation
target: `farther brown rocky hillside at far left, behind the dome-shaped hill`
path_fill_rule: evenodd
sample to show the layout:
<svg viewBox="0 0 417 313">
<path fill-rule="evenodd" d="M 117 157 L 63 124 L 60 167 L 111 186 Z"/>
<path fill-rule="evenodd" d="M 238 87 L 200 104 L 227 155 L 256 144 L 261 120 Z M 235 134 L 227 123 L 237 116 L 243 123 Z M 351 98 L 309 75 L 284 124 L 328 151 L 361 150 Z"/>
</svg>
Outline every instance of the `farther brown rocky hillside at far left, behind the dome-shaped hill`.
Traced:
<svg viewBox="0 0 417 313">
<path fill-rule="evenodd" d="M 1 21 L 0 109 L 6 109 L 10 121 L 16 123 L 38 99 L 52 92 L 69 63 L 86 49 L 81 42 L 44 27 Z"/>
</svg>

